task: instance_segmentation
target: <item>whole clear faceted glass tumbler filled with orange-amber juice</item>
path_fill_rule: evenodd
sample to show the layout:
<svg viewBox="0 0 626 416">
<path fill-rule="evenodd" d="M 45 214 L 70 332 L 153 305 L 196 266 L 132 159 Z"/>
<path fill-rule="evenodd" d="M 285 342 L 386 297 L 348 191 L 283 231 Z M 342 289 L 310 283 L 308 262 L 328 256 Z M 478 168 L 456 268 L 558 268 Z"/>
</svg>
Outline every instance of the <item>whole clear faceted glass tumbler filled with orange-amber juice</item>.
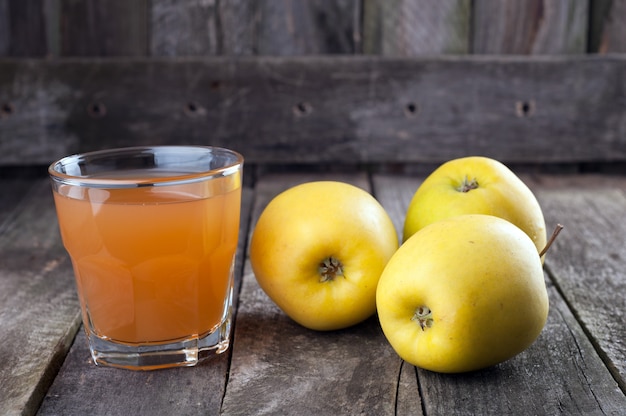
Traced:
<svg viewBox="0 0 626 416">
<path fill-rule="evenodd" d="M 48 168 L 96 365 L 191 366 L 228 349 L 243 157 L 202 146 Z"/>
</svg>

